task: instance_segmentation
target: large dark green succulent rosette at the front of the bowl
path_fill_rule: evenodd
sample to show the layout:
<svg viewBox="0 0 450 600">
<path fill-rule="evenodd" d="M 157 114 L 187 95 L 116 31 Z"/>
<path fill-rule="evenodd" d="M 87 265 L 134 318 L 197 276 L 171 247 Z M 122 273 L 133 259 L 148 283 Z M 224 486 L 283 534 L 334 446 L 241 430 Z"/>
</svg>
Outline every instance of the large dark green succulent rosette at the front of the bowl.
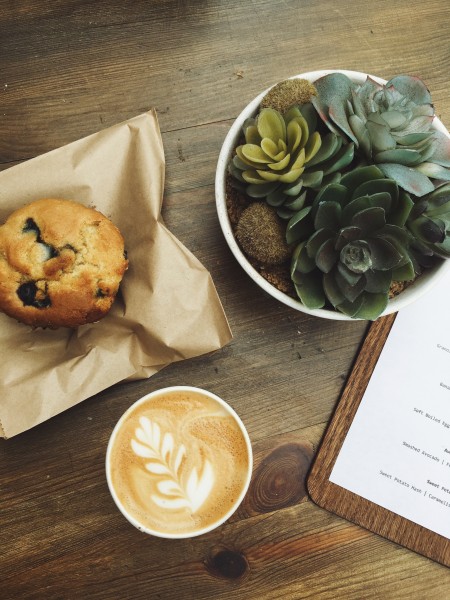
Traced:
<svg viewBox="0 0 450 600">
<path fill-rule="evenodd" d="M 291 278 L 302 303 L 310 309 L 330 303 L 350 317 L 376 319 L 392 281 L 420 272 L 405 227 L 413 207 L 409 194 L 374 165 L 322 188 L 288 224 L 288 241 L 298 242 Z"/>
</svg>

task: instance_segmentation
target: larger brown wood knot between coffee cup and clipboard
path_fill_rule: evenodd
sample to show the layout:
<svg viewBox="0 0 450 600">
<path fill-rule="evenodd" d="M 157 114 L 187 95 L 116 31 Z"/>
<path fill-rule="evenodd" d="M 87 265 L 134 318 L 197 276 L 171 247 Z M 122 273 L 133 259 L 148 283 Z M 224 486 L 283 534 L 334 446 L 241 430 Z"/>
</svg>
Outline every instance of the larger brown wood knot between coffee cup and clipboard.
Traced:
<svg viewBox="0 0 450 600">
<path fill-rule="evenodd" d="M 266 456 L 256 469 L 249 490 L 253 509 L 271 512 L 304 498 L 311 458 L 311 448 L 301 444 L 285 444 Z"/>
</svg>

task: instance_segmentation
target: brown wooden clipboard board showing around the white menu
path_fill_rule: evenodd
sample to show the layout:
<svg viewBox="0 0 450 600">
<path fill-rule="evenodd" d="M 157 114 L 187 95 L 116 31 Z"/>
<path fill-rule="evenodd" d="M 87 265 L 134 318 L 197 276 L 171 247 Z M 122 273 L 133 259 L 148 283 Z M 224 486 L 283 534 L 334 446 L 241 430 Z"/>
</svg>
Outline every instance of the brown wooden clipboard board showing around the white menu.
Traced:
<svg viewBox="0 0 450 600">
<path fill-rule="evenodd" d="M 308 476 L 308 491 L 318 506 L 450 567 L 450 540 L 329 480 L 395 317 L 383 317 L 370 326 Z"/>
</svg>

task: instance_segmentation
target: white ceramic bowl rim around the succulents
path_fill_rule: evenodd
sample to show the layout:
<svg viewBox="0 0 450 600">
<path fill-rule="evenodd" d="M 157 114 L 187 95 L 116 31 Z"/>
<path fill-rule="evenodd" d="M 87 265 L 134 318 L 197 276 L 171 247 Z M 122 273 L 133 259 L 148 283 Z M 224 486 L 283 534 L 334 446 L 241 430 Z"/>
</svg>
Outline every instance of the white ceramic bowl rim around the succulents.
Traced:
<svg viewBox="0 0 450 600">
<path fill-rule="evenodd" d="M 327 75 L 328 73 L 335 73 L 335 72 L 336 71 L 333 69 L 324 70 L 324 71 L 311 71 L 308 73 L 301 73 L 300 75 L 295 75 L 291 79 L 303 78 L 303 79 L 307 79 L 310 82 L 314 82 L 319 77 L 322 77 L 323 75 Z M 350 77 L 350 79 L 352 79 L 356 83 L 364 83 L 364 81 L 367 77 L 366 73 L 360 73 L 357 71 L 339 71 L 339 72 L 344 73 L 345 75 Z M 371 75 L 370 77 L 372 77 L 373 79 L 375 79 L 376 81 L 378 81 L 380 83 L 386 83 L 386 80 L 381 79 L 380 77 L 376 77 L 374 75 Z M 222 145 L 222 149 L 219 154 L 219 160 L 217 163 L 216 182 L 215 182 L 216 206 L 217 206 L 217 213 L 218 213 L 218 217 L 219 217 L 220 226 L 222 228 L 222 231 L 223 231 L 225 239 L 228 243 L 228 246 L 230 247 L 230 250 L 234 254 L 235 258 L 237 259 L 237 261 L 239 262 L 241 267 L 253 279 L 253 281 L 255 281 L 268 294 L 270 294 L 271 296 L 273 296 L 280 302 L 283 302 L 287 306 L 290 306 L 291 308 L 294 308 L 296 310 L 299 310 L 301 312 L 304 312 L 304 313 L 307 313 L 310 315 L 314 315 L 316 317 L 322 317 L 325 319 L 335 319 L 335 320 L 341 320 L 341 321 L 355 320 L 355 319 L 352 319 L 351 317 L 348 317 L 347 315 L 344 315 L 344 314 L 334 311 L 334 310 L 328 310 L 328 309 L 324 309 L 324 308 L 309 309 L 306 306 L 304 306 L 300 302 L 300 300 L 296 300 L 294 298 L 291 298 L 287 294 L 280 292 L 280 290 L 278 290 L 273 285 L 271 285 L 266 279 L 264 279 L 264 277 L 262 277 L 262 275 L 260 275 L 258 273 L 258 271 L 256 269 L 254 269 L 252 267 L 252 265 L 247 260 L 245 254 L 240 249 L 240 247 L 237 244 L 236 239 L 234 237 L 233 230 L 232 230 L 232 227 L 230 224 L 230 220 L 228 218 L 226 198 L 225 198 L 225 182 L 226 182 L 226 175 L 227 175 L 227 166 L 232 157 L 233 150 L 237 145 L 237 140 L 242 133 L 242 125 L 244 124 L 245 119 L 253 116 L 257 112 L 261 100 L 267 94 L 269 89 L 270 88 L 268 88 L 264 92 L 261 92 L 261 94 L 256 96 L 256 98 L 254 98 L 251 102 L 249 102 L 249 104 L 247 104 L 247 106 L 244 108 L 244 110 L 241 112 L 241 114 L 234 121 L 234 123 L 231 126 L 231 128 L 225 138 L 225 141 Z M 439 131 L 442 131 L 448 137 L 450 137 L 449 132 L 447 131 L 447 129 L 444 127 L 442 122 L 437 117 L 435 117 L 433 123 L 434 123 L 436 129 L 438 129 Z M 404 306 L 410 304 L 414 300 L 417 300 L 420 296 L 422 296 L 424 293 L 426 293 L 428 290 L 430 290 L 433 287 L 433 285 L 435 283 L 437 283 L 437 281 L 444 275 L 444 273 L 446 273 L 449 270 L 450 270 L 450 260 L 443 260 L 436 267 L 426 271 L 421 277 L 418 278 L 417 281 L 415 281 L 412 285 L 410 285 L 406 290 L 404 290 L 401 294 L 399 294 L 398 296 L 396 296 L 395 298 L 390 300 L 385 311 L 382 313 L 381 316 L 388 315 L 393 312 L 397 312 Z"/>
</svg>

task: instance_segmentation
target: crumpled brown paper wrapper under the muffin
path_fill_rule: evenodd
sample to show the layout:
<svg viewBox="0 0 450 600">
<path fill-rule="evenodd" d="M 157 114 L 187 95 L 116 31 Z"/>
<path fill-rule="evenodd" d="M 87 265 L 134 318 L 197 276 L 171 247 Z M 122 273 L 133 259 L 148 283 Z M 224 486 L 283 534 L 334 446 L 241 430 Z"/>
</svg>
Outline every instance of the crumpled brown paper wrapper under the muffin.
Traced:
<svg viewBox="0 0 450 600">
<path fill-rule="evenodd" d="M 77 200 L 119 227 L 130 261 L 98 323 L 32 329 L 0 313 L 2 437 L 230 341 L 210 274 L 162 221 L 164 169 L 150 111 L 0 173 L 1 223 L 38 198 Z"/>
</svg>

